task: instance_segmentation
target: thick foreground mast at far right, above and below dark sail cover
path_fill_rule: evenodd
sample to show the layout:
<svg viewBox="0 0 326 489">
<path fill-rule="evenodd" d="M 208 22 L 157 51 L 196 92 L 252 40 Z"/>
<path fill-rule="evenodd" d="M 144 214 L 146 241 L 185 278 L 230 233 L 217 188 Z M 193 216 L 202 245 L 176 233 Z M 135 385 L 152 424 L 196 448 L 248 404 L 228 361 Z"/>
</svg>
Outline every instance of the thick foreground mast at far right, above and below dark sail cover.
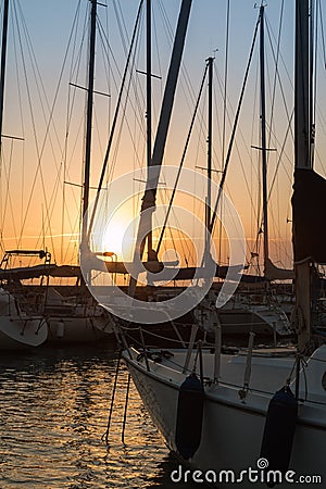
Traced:
<svg viewBox="0 0 326 489">
<path fill-rule="evenodd" d="M 310 159 L 310 87 L 309 87 L 309 0 L 296 3 L 294 67 L 294 163 L 296 168 L 312 170 Z M 294 174 L 296 175 L 296 174 Z M 296 256 L 296 234 L 293 234 Z M 298 349 L 304 352 L 311 340 L 311 259 L 294 263 Z"/>
</svg>

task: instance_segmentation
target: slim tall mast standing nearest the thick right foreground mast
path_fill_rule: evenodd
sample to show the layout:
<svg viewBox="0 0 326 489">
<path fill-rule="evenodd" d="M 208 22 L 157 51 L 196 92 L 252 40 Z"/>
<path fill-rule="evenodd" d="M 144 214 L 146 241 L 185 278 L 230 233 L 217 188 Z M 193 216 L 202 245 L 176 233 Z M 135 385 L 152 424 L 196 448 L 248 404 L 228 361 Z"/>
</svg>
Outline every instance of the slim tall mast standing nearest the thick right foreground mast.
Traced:
<svg viewBox="0 0 326 489">
<path fill-rule="evenodd" d="M 267 150 L 266 150 L 266 93 L 265 93 L 265 8 L 260 9 L 260 65 L 261 65 L 261 143 L 263 176 L 263 225 L 264 225 L 264 268 L 268 260 L 268 209 L 267 209 Z"/>
</svg>

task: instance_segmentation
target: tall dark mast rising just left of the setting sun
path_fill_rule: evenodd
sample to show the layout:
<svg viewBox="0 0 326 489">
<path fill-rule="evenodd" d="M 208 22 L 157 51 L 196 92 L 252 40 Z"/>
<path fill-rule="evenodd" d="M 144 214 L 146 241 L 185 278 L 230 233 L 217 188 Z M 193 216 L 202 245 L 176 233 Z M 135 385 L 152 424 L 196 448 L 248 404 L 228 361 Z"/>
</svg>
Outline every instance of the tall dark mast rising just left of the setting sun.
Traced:
<svg viewBox="0 0 326 489">
<path fill-rule="evenodd" d="M 87 86 L 87 118 L 86 118 L 86 145 L 85 145 L 85 167 L 84 167 L 84 195 L 83 195 L 83 228 L 82 243 L 87 242 L 87 210 L 89 204 L 89 176 L 90 176 L 90 151 L 91 151 L 91 124 L 93 106 L 93 78 L 95 78 L 95 52 L 96 52 L 96 24 L 97 24 L 97 0 L 91 2 L 90 13 L 90 37 L 89 37 L 89 63 L 88 63 L 88 86 Z"/>
</svg>

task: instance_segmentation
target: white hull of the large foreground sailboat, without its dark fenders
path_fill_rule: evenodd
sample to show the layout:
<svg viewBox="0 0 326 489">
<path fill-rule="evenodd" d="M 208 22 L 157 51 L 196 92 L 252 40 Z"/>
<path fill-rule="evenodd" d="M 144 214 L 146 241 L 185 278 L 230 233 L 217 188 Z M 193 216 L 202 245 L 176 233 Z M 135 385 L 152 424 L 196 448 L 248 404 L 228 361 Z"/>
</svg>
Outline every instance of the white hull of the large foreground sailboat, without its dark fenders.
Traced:
<svg viewBox="0 0 326 489">
<path fill-rule="evenodd" d="M 324 351 L 324 353 L 326 352 Z M 210 356 L 213 355 L 210 354 Z M 176 451 L 175 429 L 178 393 L 186 376 L 180 371 L 174 369 L 172 363 L 167 365 L 168 362 L 164 360 L 160 364 L 149 360 L 150 372 L 147 371 L 145 361 L 137 361 L 134 353 L 131 359 L 125 353 L 125 360 L 154 424 L 170 449 Z M 211 363 L 212 359 L 204 360 L 209 360 L 209 363 Z M 279 367 L 277 366 L 277 360 L 280 360 Z M 173 361 L 179 363 L 179 358 L 175 355 Z M 239 378 L 239 387 L 237 387 L 236 376 L 240 372 L 243 374 L 243 359 L 225 355 L 222 364 L 222 377 L 224 372 L 233 386 L 226 387 L 221 383 L 218 386 L 205 387 L 201 442 L 190 461 L 192 468 L 200 469 L 203 473 L 202 477 L 205 477 L 204 473 L 206 473 L 210 478 L 209 481 L 216 481 L 218 488 L 230 487 L 230 484 L 226 484 L 226 477 L 228 477 L 228 482 L 231 482 L 231 477 L 235 477 L 234 482 L 238 480 L 241 487 L 253 487 L 253 482 L 248 480 L 247 474 L 242 473 L 241 476 L 241 471 L 249 471 L 251 467 L 252 471 L 258 471 L 259 475 L 261 474 L 258 461 L 260 460 L 267 406 L 273 393 L 283 387 L 287 375 L 290 373 L 291 364 L 292 360 L 286 359 L 271 359 L 271 362 L 265 364 L 258 361 L 256 369 L 254 368 L 255 365 L 252 365 L 252 385 L 256 391 L 250 391 L 246 401 L 242 402 L 238 393 L 239 387 L 241 387 L 241 378 Z M 229 374 L 226 372 L 228 366 L 233 371 Z M 204 369 L 205 367 L 206 363 L 204 362 Z M 269 376 L 265 376 L 268 368 L 269 372 L 272 369 L 275 372 L 273 378 L 272 373 Z M 264 391 L 271 389 L 271 393 L 259 392 L 260 389 Z M 321 400 L 323 392 L 315 392 L 314 396 L 318 396 Z M 316 397 L 315 399 L 317 399 Z M 325 398 L 324 391 L 324 400 Z M 191 426 L 189 429 L 191 429 Z M 314 475 L 325 480 L 325 404 L 300 405 L 289 466 L 289 469 L 296 474 L 290 475 L 290 477 L 297 481 L 300 476 Z M 185 468 L 179 467 L 178 471 L 174 474 L 174 477 L 178 478 L 181 474 L 180 481 L 185 482 L 185 477 L 189 478 L 190 475 L 185 475 Z M 208 471 L 212 471 L 216 475 L 216 480 L 213 479 L 213 473 Z M 225 471 L 231 471 L 231 473 L 226 475 Z M 304 484 L 301 486 L 308 487 Z M 263 488 L 266 485 L 255 482 L 254 487 Z M 287 487 L 287 484 L 278 487 Z"/>
</svg>

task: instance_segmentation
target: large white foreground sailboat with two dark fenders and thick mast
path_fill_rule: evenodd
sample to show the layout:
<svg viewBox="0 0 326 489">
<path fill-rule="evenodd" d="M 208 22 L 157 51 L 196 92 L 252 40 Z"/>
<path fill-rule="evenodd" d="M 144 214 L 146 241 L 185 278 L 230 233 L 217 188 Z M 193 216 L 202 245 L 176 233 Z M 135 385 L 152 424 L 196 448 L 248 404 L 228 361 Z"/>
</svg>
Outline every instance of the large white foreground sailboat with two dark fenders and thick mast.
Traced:
<svg viewBox="0 0 326 489">
<path fill-rule="evenodd" d="M 172 481 L 216 487 L 303 487 L 326 479 L 326 346 L 315 344 L 311 274 L 325 263 L 326 181 L 312 168 L 309 1 L 296 1 L 293 254 L 298 344 L 227 354 L 214 349 L 137 350 L 131 378 L 180 464 Z M 218 306 L 218 303 L 217 303 Z M 217 309 L 218 312 L 218 309 Z"/>
</svg>

